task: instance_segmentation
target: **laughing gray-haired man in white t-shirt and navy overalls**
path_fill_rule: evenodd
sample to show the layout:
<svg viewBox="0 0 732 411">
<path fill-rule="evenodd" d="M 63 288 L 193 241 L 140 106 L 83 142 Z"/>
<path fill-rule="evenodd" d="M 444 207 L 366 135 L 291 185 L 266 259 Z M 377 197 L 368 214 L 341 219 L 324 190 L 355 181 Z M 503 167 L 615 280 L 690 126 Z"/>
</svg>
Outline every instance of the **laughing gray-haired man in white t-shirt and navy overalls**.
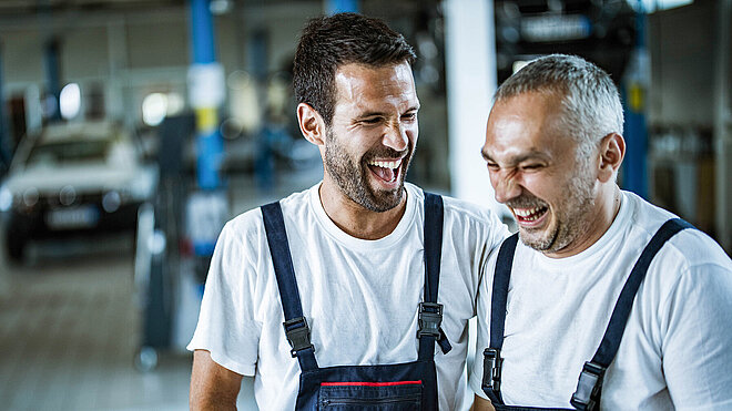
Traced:
<svg viewBox="0 0 732 411">
<path fill-rule="evenodd" d="M 475 410 L 732 409 L 732 263 L 618 187 L 622 123 L 610 76 L 577 56 L 496 93 L 482 155 L 519 233 L 479 288 Z"/>
</svg>

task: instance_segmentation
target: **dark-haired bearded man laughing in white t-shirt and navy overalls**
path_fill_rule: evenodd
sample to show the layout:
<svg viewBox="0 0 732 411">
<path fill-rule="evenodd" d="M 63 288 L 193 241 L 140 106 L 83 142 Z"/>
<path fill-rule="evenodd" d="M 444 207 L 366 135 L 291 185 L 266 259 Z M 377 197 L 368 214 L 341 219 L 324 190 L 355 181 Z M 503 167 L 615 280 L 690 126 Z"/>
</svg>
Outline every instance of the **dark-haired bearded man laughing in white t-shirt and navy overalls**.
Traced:
<svg viewBox="0 0 732 411">
<path fill-rule="evenodd" d="M 189 346 L 192 409 L 233 409 L 242 376 L 254 376 L 263 410 L 469 405 L 467 321 L 508 232 L 488 210 L 405 183 L 414 59 L 375 19 L 305 28 L 297 121 L 323 182 L 223 229 Z"/>
</svg>

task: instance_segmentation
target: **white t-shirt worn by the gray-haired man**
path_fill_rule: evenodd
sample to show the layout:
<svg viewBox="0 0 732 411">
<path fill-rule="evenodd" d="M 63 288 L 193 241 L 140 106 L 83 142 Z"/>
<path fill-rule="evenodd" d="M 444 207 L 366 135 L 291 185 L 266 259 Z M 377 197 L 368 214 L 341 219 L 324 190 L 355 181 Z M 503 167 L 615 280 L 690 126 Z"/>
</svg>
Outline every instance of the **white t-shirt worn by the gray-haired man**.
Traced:
<svg viewBox="0 0 732 411">
<path fill-rule="evenodd" d="M 507 404 L 571 408 L 620 290 L 643 247 L 672 214 L 623 192 L 620 212 L 590 248 L 549 258 L 519 242 L 508 290 L 501 393 Z M 497 251 L 489 267 L 495 267 Z M 492 276 L 478 296 L 477 358 L 490 341 Z M 732 263 L 685 229 L 652 260 L 602 387 L 607 410 L 732 409 Z"/>
</svg>

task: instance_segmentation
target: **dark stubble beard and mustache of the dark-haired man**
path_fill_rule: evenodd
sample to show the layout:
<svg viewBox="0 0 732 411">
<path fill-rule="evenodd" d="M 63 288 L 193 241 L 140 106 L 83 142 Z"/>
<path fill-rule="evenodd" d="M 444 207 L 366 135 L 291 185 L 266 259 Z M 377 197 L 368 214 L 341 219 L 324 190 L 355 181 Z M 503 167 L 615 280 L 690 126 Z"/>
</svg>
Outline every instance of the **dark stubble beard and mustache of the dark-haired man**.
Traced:
<svg viewBox="0 0 732 411">
<path fill-rule="evenodd" d="M 382 151 L 370 151 L 365 153 L 362 158 L 355 160 L 348 156 L 345 147 L 340 145 L 328 130 L 325 144 L 325 169 L 335 181 L 340 192 L 362 207 L 377 213 L 387 212 L 401 203 L 404 193 L 404 181 L 411 160 L 413 147 L 401 161 L 399 171 L 399 185 L 395 189 L 374 189 L 369 184 L 369 173 L 367 161 L 376 157 L 394 158 L 399 157 L 400 153 L 392 148 Z"/>
</svg>

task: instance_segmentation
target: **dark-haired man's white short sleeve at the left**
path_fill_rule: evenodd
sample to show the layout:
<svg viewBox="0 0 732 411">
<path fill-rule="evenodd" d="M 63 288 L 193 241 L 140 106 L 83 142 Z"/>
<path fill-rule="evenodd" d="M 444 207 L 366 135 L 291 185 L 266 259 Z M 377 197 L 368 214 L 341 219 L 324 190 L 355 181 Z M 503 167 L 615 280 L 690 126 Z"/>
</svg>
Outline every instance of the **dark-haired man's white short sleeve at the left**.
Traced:
<svg viewBox="0 0 732 411">
<path fill-rule="evenodd" d="M 253 217 L 252 215 L 250 217 Z M 254 218 L 248 218 L 253 222 Z M 187 349 L 207 350 L 222 367 L 254 376 L 261 323 L 254 317 L 256 269 L 242 225 L 224 226 L 214 250 L 199 323 Z"/>
</svg>

